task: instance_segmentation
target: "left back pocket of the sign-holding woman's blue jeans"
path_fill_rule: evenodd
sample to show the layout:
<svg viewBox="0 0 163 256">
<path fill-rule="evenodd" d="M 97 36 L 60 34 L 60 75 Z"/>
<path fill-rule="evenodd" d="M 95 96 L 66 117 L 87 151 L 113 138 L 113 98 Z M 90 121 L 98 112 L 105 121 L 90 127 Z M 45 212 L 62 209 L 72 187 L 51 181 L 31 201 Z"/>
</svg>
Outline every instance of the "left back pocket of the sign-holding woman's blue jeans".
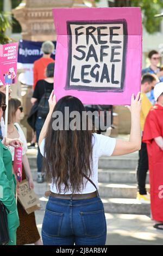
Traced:
<svg viewBox="0 0 163 256">
<path fill-rule="evenodd" d="M 59 236 L 63 214 L 45 210 L 43 218 L 42 231 L 47 236 Z"/>
</svg>

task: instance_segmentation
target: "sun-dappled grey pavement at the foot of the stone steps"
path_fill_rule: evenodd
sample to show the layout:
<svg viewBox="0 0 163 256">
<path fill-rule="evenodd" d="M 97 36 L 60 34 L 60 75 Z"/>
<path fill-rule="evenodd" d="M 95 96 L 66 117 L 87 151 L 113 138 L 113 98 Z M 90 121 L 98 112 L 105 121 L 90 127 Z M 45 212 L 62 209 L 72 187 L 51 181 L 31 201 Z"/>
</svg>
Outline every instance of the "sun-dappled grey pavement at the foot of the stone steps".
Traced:
<svg viewBox="0 0 163 256">
<path fill-rule="evenodd" d="M 35 212 L 41 234 L 44 211 Z M 146 215 L 105 214 L 106 245 L 163 245 L 163 230 L 153 228 L 154 222 Z"/>
</svg>

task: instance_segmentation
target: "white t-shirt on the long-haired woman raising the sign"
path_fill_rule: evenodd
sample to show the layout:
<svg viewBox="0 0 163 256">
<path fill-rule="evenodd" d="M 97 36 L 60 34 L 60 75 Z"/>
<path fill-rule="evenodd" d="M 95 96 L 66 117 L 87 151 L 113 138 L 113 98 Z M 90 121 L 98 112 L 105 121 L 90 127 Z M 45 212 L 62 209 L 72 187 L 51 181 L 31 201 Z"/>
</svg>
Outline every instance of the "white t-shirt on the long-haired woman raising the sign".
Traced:
<svg viewBox="0 0 163 256">
<path fill-rule="evenodd" d="M 99 188 L 98 186 L 98 159 L 100 156 L 111 156 L 116 145 L 116 139 L 115 138 L 110 138 L 108 136 L 104 135 L 99 135 L 97 133 L 93 133 L 92 135 L 92 145 L 93 145 L 93 150 L 92 150 L 92 170 L 91 170 L 91 176 L 90 179 L 94 182 L 96 185 L 97 189 Z M 41 142 L 40 145 L 40 152 L 42 155 L 44 155 L 44 147 L 45 147 L 45 139 Z M 90 181 L 87 181 L 86 178 L 84 178 L 84 189 L 82 192 L 75 192 L 76 194 L 82 193 L 92 193 L 96 191 L 95 186 L 91 184 Z M 64 187 L 65 185 L 61 185 L 61 194 L 64 194 Z M 51 183 L 51 191 L 53 193 L 58 193 L 57 187 L 53 182 Z M 71 190 L 68 190 L 66 194 L 71 194 Z"/>
</svg>

